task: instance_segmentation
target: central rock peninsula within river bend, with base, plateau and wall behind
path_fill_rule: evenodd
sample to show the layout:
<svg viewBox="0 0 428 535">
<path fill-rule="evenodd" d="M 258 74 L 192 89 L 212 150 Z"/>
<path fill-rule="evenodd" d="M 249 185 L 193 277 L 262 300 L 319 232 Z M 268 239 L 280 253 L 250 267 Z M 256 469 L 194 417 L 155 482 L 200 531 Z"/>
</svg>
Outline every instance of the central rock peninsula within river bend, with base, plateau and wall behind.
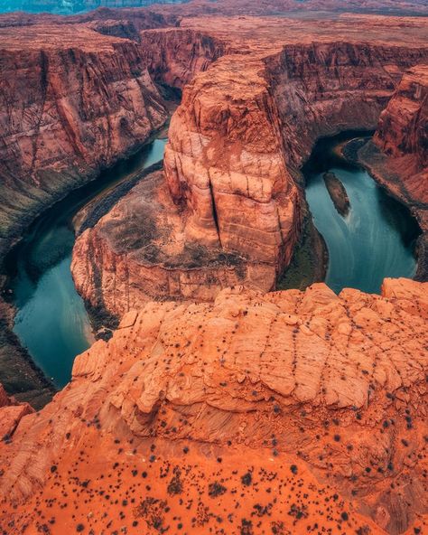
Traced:
<svg viewBox="0 0 428 535">
<path fill-rule="evenodd" d="M 126 210 L 142 198 L 135 190 L 80 236 L 72 270 L 88 305 L 120 316 L 142 298 L 204 300 L 230 276 L 233 284 L 274 288 L 300 238 L 299 169 L 316 140 L 374 129 L 405 70 L 427 61 L 424 20 L 405 20 L 414 42 L 397 19 L 368 20 L 359 21 L 366 42 L 353 35 L 352 17 L 330 21 L 329 33 L 274 17 L 211 17 L 209 32 L 194 18 L 141 33 L 154 80 L 187 83 L 164 157 L 171 199 L 156 201 L 159 213 L 178 217 L 166 226 L 152 218 L 151 230 L 133 239 L 131 213 L 146 227 L 144 201 Z M 387 44 L 391 32 L 397 39 Z"/>
</svg>

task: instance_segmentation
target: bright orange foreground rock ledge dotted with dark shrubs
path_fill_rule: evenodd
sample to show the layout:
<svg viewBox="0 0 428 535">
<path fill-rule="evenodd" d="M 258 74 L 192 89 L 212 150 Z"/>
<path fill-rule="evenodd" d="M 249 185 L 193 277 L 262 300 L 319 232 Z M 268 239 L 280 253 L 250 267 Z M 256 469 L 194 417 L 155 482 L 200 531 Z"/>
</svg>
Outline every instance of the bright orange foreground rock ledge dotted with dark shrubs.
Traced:
<svg viewBox="0 0 428 535">
<path fill-rule="evenodd" d="M 0 525 L 423 533 L 427 289 L 239 286 L 126 314 L 0 445 Z"/>
</svg>

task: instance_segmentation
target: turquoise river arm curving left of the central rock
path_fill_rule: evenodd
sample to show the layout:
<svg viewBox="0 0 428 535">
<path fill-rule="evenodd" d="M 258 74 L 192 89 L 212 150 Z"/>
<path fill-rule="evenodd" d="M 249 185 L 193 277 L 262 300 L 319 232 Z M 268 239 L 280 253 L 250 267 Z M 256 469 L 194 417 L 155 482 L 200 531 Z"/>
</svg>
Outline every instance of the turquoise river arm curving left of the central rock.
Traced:
<svg viewBox="0 0 428 535">
<path fill-rule="evenodd" d="M 8 260 L 9 271 L 14 273 L 10 287 L 17 309 L 14 333 L 58 388 L 69 382 L 76 355 L 94 340 L 70 272 L 75 241 L 72 218 L 94 197 L 161 161 L 165 143 L 155 140 L 138 155 L 57 202 L 34 221 Z"/>
</svg>

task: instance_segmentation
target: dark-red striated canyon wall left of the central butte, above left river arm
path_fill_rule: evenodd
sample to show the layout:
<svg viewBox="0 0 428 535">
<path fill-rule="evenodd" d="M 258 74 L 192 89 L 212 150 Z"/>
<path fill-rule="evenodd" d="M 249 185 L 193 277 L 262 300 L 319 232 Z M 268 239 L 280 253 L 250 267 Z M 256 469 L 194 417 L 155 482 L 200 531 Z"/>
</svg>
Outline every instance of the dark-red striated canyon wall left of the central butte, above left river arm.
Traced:
<svg viewBox="0 0 428 535">
<path fill-rule="evenodd" d="M 141 146 L 167 118 L 138 45 L 84 26 L 4 28 L 3 249 L 34 213 Z"/>
</svg>

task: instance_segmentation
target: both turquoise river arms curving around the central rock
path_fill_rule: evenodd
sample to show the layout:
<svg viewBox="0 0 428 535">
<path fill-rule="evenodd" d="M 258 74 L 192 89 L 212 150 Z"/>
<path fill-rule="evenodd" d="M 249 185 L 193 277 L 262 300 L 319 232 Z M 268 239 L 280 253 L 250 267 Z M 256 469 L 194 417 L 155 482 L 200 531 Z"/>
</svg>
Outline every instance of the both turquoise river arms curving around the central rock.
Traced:
<svg viewBox="0 0 428 535">
<path fill-rule="evenodd" d="M 336 292 L 350 286 L 378 292 L 384 277 L 412 277 L 418 226 L 404 206 L 380 189 L 361 167 L 338 155 L 343 136 L 319 142 L 304 167 L 306 198 L 329 249 L 327 284 Z M 71 192 L 34 221 L 7 258 L 14 333 L 58 387 L 70 380 L 74 358 L 93 341 L 88 314 L 70 273 L 73 219 L 150 165 L 160 162 L 166 140 L 157 139 L 137 155 Z M 323 174 L 331 171 L 348 192 L 350 210 L 340 216 Z M 81 212 L 80 212 L 81 213 Z"/>
</svg>

